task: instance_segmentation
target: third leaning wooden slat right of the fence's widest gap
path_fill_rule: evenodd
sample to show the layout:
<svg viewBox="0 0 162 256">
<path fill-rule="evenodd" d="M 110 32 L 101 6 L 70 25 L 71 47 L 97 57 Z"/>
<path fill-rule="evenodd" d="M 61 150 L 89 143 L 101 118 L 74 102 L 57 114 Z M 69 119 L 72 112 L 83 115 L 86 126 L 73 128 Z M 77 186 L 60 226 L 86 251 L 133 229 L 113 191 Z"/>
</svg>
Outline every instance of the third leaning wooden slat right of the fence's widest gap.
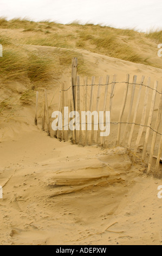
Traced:
<svg viewBox="0 0 162 256">
<path fill-rule="evenodd" d="M 137 102 L 136 102 L 135 109 L 134 109 L 133 124 L 132 124 L 132 127 L 131 127 L 131 132 L 130 132 L 130 135 L 129 135 L 129 139 L 128 139 L 128 149 L 131 148 L 133 131 L 134 131 L 134 126 L 135 126 L 135 120 L 137 118 L 139 102 L 140 102 L 140 97 L 141 97 L 142 84 L 144 83 L 144 80 L 145 80 L 145 76 L 142 76 L 141 84 L 140 84 L 140 88 L 139 88 L 139 93 L 138 93 L 138 97 L 137 97 Z"/>
</svg>

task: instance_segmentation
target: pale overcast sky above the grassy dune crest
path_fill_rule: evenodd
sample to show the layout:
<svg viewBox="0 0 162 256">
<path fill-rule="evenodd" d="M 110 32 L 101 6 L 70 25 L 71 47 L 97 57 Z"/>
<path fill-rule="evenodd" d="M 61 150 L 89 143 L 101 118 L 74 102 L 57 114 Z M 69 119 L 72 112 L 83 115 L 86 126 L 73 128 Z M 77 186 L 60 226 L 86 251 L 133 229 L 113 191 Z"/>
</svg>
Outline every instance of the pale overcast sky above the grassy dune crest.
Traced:
<svg viewBox="0 0 162 256">
<path fill-rule="evenodd" d="M 34 21 L 102 23 L 147 31 L 162 27 L 161 0 L 0 0 L 0 16 Z"/>
</svg>

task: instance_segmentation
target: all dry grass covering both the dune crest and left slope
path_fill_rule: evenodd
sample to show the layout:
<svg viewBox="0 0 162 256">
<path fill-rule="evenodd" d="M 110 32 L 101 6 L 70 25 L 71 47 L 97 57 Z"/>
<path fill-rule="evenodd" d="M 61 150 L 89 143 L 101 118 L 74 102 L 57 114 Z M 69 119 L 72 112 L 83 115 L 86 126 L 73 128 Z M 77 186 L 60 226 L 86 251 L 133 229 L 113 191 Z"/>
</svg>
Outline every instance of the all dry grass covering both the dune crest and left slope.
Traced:
<svg viewBox="0 0 162 256">
<path fill-rule="evenodd" d="M 3 29 L 16 29 L 14 33 L 3 32 Z M 79 60 L 80 75 L 91 76 L 93 70 L 83 59 L 82 53 L 75 48 L 105 54 L 109 57 L 128 60 L 161 68 L 155 59 L 149 58 L 157 54 L 157 43 L 162 42 L 162 31 L 139 33 L 135 29 L 116 29 L 112 27 L 86 24 L 74 21 L 68 25 L 56 22 L 34 22 L 25 19 L 0 18 L 0 44 L 3 45 L 3 58 L 0 58 L 1 85 L 9 89 L 9 81 L 27 81 L 28 88 L 18 95 L 0 100 L 0 115 L 12 113 L 19 104 L 31 104 L 35 89 L 47 87 L 49 81 L 56 82 L 64 69 L 70 70 L 73 57 Z M 35 50 L 33 46 L 52 46 L 50 53 L 46 50 Z M 143 49 L 146 47 L 146 51 Z M 142 52 L 142 54 L 141 54 Z M 144 52 L 144 54 L 143 54 Z M 148 61 L 149 59 L 149 61 Z M 52 83 L 54 83 L 52 82 Z"/>
</svg>

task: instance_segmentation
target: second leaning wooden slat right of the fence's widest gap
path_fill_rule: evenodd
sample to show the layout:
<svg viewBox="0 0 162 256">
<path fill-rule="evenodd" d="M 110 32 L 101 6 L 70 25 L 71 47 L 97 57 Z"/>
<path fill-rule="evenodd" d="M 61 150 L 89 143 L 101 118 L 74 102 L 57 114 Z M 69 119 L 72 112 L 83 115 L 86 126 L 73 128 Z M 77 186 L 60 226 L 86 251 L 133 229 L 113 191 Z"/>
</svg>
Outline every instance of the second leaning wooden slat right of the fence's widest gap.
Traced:
<svg viewBox="0 0 162 256">
<path fill-rule="evenodd" d="M 131 118 L 131 114 L 132 114 L 132 108 L 133 108 L 133 101 L 134 101 L 134 93 L 135 93 L 135 84 L 136 84 L 136 81 L 137 81 L 137 76 L 133 76 L 133 85 L 132 85 L 131 101 L 130 101 L 130 104 L 129 104 L 129 112 L 128 112 L 128 116 L 127 116 L 127 121 L 126 121 L 124 136 L 123 136 L 123 140 L 122 140 L 122 144 L 123 144 L 123 145 L 125 145 L 125 143 L 126 143 L 126 137 L 127 137 L 127 134 L 128 134 L 129 122 L 130 122 L 130 118 Z"/>
</svg>

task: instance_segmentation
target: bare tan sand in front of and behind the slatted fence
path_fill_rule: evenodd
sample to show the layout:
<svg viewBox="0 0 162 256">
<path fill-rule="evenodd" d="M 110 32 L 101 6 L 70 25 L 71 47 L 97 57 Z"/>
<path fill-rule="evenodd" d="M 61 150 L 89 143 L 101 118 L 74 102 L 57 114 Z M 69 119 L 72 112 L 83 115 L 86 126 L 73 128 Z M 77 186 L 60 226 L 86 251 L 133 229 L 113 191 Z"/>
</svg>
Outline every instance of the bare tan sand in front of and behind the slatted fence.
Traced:
<svg viewBox="0 0 162 256">
<path fill-rule="evenodd" d="M 32 47 L 53 51 L 53 47 Z M 155 79 L 162 81 L 161 69 L 81 52 L 98 76 L 117 74 L 124 81 L 129 72 L 131 79 L 134 74 L 151 76 L 151 86 Z M 49 89 L 50 98 L 56 94 L 51 111 L 58 107 L 58 86 L 68 81 L 69 74 L 65 70 L 57 86 Z M 114 121 L 118 121 L 123 92 L 119 84 Z M 2 245 L 161 244 L 162 201 L 157 197 L 161 180 L 147 177 L 146 166 L 123 148 L 103 150 L 59 142 L 33 121 L 34 107 L 23 106 L 16 117 L 1 124 Z M 113 127 L 111 140 L 115 139 Z"/>
</svg>

